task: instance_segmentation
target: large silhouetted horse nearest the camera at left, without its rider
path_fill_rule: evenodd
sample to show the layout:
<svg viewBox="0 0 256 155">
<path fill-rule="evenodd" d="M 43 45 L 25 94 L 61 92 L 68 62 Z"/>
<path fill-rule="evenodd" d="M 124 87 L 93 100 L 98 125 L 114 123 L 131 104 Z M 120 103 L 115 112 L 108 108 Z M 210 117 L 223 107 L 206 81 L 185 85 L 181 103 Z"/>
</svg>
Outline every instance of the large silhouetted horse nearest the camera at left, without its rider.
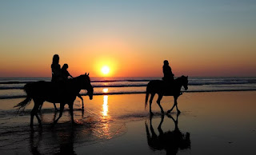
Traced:
<svg viewBox="0 0 256 155">
<path fill-rule="evenodd" d="M 89 74 L 80 75 L 66 82 L 36 81 L 34 83 L 28 83 L 24 86 L 26 99 L 14 107 L 18 107 L 18 111 L 20 109 L 23 110 L 32 99 L 34 100 L 34 108 L 30 113 L 30 127 L 33 127 L 34 116 L 38 118 L 39 126 L 42 126 L 42 122 L 38 117 L 38 107 L 44 101 L 60 103 L 59 117 L 54 121 L 54 124 L 62 117 L 64 105 L 67 104 L 70 108 L 72 123 L 74 123 L 73 104 L 81 89 L 86 89 L 90 100 L 93 99 L 94 88 L 90 85 Z"/>
</svg>

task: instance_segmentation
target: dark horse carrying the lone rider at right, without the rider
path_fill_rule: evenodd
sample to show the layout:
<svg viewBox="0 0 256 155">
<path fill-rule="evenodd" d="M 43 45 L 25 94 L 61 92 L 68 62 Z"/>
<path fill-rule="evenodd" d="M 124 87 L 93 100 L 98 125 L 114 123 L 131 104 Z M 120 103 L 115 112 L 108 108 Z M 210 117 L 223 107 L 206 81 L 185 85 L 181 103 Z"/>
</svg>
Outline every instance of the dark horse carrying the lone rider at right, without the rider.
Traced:
<svg viewBox="0 0 256 155">
<path fill-rule="evenodd" d="M 145 108 L 146 108 L 146 105 L 147 105 L 149 94 L 151 94 L 151 97 L 150 97 L 150 114 L 153 114 L 152 111 L 151 111 L 151 104 L 152 104 L 155 93 L 158 93 L 157 103 L 158 103 L 158 105 L 161 109 L 161 113 L 164 113 L 164 111 L 162 109 L 162 106 L 160 105 L 160 101 L 162 100 L 163 96 L 174 96 L 174 105 L 170 110 L 167 111 L 167 113 L 170 113 L 174 109 L 174 106 L 176 106 L 177 112 L 181 113 L 180 110 L 178 110 L 177 100 L 178 100 L 178 97 L 182 94 L 181 93 L 182 86 L 185 89 L 188 89 L 188 87 L 187 87 L 188 77 L 185 77 L 185 76 L 182 75 L 182 77 L 176 78 L 174 80 L 174 83 L 171 85 L 170 88 L 167 88 L 166 84 L 167 84 L 166 81 L 152 80 L 146 85 Z M 170 89 L 171 91 L 167 90 L 166 88 Z"/>
</svg>

